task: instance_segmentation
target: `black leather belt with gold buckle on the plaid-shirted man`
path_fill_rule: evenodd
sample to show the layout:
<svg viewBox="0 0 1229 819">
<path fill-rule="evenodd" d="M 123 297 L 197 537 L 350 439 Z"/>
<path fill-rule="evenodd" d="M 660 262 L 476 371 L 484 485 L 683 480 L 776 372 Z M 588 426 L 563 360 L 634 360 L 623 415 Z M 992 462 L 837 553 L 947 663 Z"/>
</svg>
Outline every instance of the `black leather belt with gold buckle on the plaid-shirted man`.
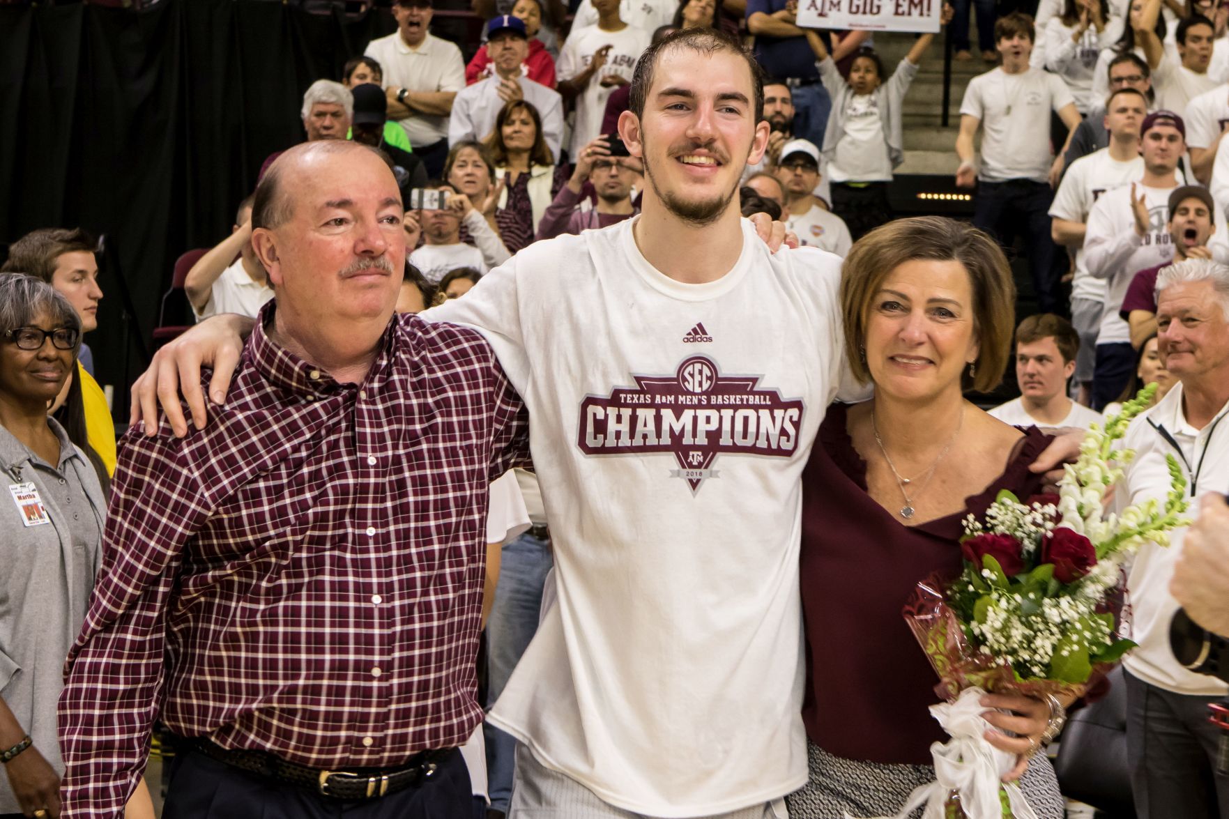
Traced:
<svg viewBox="0 0 1229 819">
<path fill-rule="evenodd" d="M 264 751 L 226 749 L 208 739 L 194 740 L 192 746 L 231 767 L 345 801 L 374 799 L 428 782 L 435 775 L 439 764 L 456 751 L 455 748 L 426 750 L 412 756 L 406 765 L 393 769 L 358 767 L 349 771 L 322 771 L 288 762 Z"/>
</svg>

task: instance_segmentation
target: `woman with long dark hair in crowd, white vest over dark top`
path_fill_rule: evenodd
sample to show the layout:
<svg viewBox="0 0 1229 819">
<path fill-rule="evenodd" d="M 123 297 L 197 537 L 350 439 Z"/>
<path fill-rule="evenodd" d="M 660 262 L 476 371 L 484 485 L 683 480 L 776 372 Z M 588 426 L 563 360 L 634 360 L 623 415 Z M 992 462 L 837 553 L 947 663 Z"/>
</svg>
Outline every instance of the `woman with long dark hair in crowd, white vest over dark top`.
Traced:
<svg viewBox="0 0 1229 819">
<path fill-rule="evenodd" d="M 542 117 L 525 100 L 512 100 L 499 111 L 487 148 L 504 186 L 495 224 L 508 251 L 515 253 L 533 241 L 542 214 L 568 181 L 567 168 L 554 165 L 542 136 Z"/>
</svg>

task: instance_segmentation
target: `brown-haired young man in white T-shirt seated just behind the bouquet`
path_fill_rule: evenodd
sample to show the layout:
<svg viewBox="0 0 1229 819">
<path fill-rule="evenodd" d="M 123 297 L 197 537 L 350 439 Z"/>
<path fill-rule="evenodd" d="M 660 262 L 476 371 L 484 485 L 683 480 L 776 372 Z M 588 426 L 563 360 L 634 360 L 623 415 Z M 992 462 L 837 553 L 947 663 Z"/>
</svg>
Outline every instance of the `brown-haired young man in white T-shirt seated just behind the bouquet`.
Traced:
<svg viewBox="0 0 1229 819">
<path fill-rule="evenodd" d="M 1015 330 L 1015 380 L 1020 397 L 1000 403 L 992 416 L 1018 427 L 1082 427 L 1100 422 L 1094 412 L 1067 397 L 1080 341 L 1075 328 L 1050 312 L 1029 316 Z"/>
</svg>

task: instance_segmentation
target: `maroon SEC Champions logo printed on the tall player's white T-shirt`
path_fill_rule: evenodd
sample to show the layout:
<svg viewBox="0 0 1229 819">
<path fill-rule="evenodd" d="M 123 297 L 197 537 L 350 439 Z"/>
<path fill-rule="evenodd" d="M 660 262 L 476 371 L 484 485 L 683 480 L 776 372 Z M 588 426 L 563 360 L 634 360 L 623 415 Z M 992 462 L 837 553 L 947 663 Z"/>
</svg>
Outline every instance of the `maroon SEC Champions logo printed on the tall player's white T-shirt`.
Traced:
<svg viewBox="0 0 1229 819">
<path fill-rule="evenodd" d="M 721 375 L 708 357 L 673 375 L 634 375 L 634 387 L 580 402 L 576 444 L 585 455 L 673 453 L 671 477 L 697 492 L 721 453 L 789 457 L 798 449 L 803 401 L 757 390 L 760 376 Z"/>
</svg>

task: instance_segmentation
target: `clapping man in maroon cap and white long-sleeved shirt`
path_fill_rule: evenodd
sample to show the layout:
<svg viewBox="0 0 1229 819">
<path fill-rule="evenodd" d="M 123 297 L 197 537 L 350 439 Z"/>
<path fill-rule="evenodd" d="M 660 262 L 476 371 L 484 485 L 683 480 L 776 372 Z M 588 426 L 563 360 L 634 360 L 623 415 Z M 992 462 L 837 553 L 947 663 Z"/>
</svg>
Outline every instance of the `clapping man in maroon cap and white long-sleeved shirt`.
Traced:
<svg viewBox="0 0 1229 819">
<path fill-rule="evenodd" d="M 1171 111 L 1148 114 L 1141 127 L 1144 173 L 1138 183 L 1106 192 L 1093 205 L 1084 239 L 1090 275 L 1105 279 L 1105 307 L 1096 338 L 1093 408 L 1101 411 L 1127 386 L 1136 365 L 1127 322 L 1118 315 L 1134 274 L 1174 258 L 1169 196 L 1177 187 L 1177 164 L 1186 151 L 1186 127 Z"/>
</svg>

